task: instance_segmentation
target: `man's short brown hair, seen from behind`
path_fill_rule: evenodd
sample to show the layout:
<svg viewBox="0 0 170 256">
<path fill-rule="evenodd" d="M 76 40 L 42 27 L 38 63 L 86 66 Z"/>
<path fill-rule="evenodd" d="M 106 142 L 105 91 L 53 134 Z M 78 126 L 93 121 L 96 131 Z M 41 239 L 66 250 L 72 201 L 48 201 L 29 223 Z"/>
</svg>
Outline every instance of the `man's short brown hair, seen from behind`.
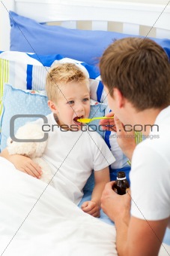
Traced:
<svg viewBox="0 0 170 256">
<path fill-rule="evenodd" d="M 100 74 L 111 96 L 118 88 L 139 111 L 170 104 L 169 58 L 148 38 L 113 42 L 100 59 Z"/>
</svg>

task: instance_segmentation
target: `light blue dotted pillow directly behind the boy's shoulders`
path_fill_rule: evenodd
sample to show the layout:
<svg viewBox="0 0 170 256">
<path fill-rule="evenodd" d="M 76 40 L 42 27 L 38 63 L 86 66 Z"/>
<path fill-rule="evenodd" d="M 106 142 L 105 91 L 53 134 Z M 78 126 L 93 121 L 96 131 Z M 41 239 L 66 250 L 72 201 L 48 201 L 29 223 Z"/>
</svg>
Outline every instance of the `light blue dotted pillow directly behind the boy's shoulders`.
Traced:
<svg viewBox="0 0 170 256">
<path fill-rule="evenodd" d="M 10 119 L 16 114 L 43 114 L 51 113 L 45 90 L 21 90 L 12 87 L 10 84 L 4 84 L 4 93 L 2 98 L 3 113 L 1 115 L 1 150 L 6 148 L 7 138 L 10 136 Z M 89 117 L 103 117 L 106 105 L 91 100 L 91 112 Z M 39 118 L 37 116 L 37 118 Z M 28 121 L 37 119 L 36 117 L 19 117 L 14 122 L 14 133 Z M 100 131 L 99 120 L 90 123 L 91 128 L 104 136 L 104 131 Z M 95 125 L 95 126 L 94 126 Z"/>
</svg>

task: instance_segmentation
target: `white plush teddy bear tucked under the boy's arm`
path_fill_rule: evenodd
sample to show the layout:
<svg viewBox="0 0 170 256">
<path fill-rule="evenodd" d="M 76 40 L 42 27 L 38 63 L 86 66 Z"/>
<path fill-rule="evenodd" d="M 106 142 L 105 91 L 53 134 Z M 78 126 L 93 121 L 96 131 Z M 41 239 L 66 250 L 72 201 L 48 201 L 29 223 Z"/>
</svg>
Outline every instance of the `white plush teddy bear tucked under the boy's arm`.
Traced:
<svg viewBox="0 0 170 256">
<path fill-rule="evenodd" d="M 21 126 L 15 134 L 16 139 L 25 140 L 25 142 L 16 142 L 11 138 L 7 139 L 7 151 L 9 154 L 22 154 L 30 157 L 42 169 L 41 181 L 49 183 L 52 180 L 52 172 L 49 165 L 41 158 L 46 148 L 47 141 L 44 142 L 26 142 L 26 140 L 43 139 L 44 133 L 42 127 L 36 123 L 26 123 Z M 52 182 L 50 182 L 52 184 Z"/>
</svg>

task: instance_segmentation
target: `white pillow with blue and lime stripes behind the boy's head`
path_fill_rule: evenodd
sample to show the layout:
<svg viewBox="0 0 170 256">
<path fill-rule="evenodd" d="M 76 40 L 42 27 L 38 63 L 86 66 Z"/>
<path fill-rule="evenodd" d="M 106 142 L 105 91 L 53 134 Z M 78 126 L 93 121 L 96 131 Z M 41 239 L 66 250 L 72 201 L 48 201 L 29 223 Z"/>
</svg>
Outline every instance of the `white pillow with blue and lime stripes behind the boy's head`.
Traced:
<svg viewBox="0 0 170 256">
<path fill-rule="evenodd" d="M 60 54 L 37 56 L 34 53 L 0 51 L 0 114 L 4 83 L 13 84 L 13 87 L 19 89 L 45 90 L 46 74 L 49 67 L 58 62 L 72 62 L 84 69 L 89 77 L 91 99 L 97 100 L 97 102 L 107 102 L 97 66 L 91 66 L 76 59 L 64 58 Z"/>
</svg>

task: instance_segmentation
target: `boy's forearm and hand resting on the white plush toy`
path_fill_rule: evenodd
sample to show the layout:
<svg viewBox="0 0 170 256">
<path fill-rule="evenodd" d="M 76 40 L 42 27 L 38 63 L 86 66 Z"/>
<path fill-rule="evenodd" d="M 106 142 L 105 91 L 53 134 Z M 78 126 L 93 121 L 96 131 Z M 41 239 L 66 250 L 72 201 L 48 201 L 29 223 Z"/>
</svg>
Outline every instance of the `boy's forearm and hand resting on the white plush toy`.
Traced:
<svg viewBox="0 0 170 256">
<path fill-rule="evenodd" d="M 40 166 L 38 166 L 37 163 L 34 163 L 34 161 L 29 157 L 25 157 L 20 154 L 10 155 L 7 151 L 7 148 L 1 151 L 0 157 L 6 158 L 11 163 L 13 163 L 16 169 L 21 172 L 28 173 L 28 175 L 31 175 L 35 178 L 40 178 L 40 175 L 42 174 Z"/>
</svg>

